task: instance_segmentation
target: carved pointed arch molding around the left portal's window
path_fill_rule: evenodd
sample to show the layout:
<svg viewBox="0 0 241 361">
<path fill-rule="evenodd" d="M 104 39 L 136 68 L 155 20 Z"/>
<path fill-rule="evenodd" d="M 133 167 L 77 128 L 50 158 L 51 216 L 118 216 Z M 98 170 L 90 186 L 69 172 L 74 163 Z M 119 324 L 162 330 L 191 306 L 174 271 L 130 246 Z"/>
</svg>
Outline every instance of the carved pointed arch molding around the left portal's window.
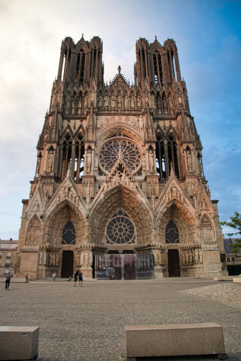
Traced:
<svg viewBox="0 0 241 361">
<path fill-rule="evenodd" d="M 71 221 L 75 227 L 75 248 L 79 248 L 80 245 L 85 243 L 86 222 L 84 216 L 68 199 L 63 200 L 56 205 L 46 218 L 44 243 L 49 243 L 51 246 L 62 247 L 62 231 L 68 221 Z"/>
</svg>

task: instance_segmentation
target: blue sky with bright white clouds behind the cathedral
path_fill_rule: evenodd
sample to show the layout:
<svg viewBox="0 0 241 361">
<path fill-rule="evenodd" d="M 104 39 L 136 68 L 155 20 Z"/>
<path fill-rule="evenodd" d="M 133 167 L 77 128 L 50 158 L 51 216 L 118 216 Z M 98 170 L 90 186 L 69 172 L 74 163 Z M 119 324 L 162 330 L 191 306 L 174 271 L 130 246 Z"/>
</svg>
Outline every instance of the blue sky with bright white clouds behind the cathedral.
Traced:
<svg viewBox="0 0 241 361">
<path fill-rule="evenodd" d="M 119 64 L 133 81 L 140 37 L 176 41 L 212 199 L 221 221 L 241 212 L 240 17 L 241 1 L 0 0 L 0 238 L 18 239 L 61 42 L 82 33 L 103 40 L 105 82 Z"/>
</svg>

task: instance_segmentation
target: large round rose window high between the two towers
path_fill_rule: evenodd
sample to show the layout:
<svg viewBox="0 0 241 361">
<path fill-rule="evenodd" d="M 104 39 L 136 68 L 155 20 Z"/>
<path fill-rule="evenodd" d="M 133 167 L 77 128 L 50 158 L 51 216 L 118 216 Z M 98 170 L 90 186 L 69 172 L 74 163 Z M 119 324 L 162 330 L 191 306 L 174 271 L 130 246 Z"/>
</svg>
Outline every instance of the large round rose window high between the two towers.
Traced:
<svg viewBox="0 0 241 361">
<path fill-rule="evenodd" d="M 123 157 L 128 168 L 134 173 L 141 166 L 141 152 L 135 142 L 119 137 L 111 138 L 102 145 L 99 165 L 102 170 L 109 172 L 118 160 Z"/>
</svg>

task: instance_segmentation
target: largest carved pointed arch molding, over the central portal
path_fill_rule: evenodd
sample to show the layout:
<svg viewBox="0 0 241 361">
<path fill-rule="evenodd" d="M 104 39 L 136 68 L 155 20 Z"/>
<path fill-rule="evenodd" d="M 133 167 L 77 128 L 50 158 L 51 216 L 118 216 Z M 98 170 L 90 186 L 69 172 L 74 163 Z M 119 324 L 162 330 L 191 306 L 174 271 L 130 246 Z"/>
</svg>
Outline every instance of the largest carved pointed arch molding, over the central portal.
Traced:
<svg viewBox="0 0 241 361">
<path fill-rule="evenodd" d="M 106 245 L 106 225 L 111 216 L 123 209 L 128 214 L 136 231 L 136 246 L 153 242 L 153 216 L 151 207 L 144 203 L 144 197 L 121 184 L 111 188 L 92 204 L 89 216 L 90 240 L 98 246 Z"/>
</svg>

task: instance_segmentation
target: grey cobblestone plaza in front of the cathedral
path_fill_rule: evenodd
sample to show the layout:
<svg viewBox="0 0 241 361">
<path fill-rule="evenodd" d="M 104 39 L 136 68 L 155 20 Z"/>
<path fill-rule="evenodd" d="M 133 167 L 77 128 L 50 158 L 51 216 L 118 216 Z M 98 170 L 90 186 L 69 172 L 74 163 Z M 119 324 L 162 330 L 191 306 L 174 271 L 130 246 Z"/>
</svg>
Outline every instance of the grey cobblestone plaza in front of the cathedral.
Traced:
<svg viewBox="0 0 241 361">
<path fill-rule="evenodd" d="M 126 357 L 125 325 L 216 322 L 223 326 L 228 359 L 236 361 L 240 296 L 239 284 L 200 279 L 93 280 L 83 287 L 12 282 L 9 291 L 1 283 L 1 326 L 39 326 L 39 361 L 118 361 Z"/>
</svg>

